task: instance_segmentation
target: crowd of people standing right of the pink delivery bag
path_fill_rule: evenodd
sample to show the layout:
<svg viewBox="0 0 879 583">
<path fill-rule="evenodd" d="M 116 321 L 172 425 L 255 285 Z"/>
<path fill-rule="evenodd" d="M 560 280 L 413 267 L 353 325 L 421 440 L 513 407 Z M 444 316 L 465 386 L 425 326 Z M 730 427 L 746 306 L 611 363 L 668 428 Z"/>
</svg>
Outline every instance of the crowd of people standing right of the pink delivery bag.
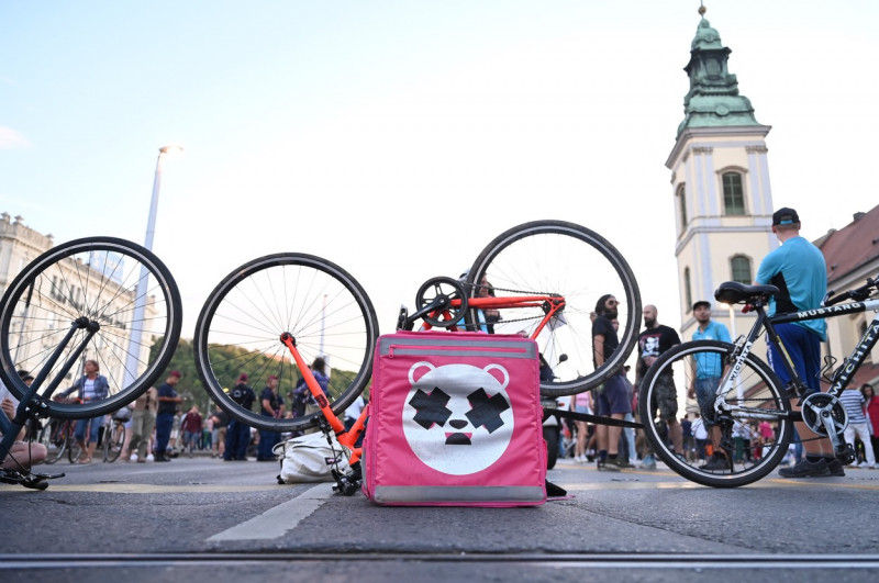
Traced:
<svg viewBox="0 0 879 583">
<path fill-rule="evenodd" d="M 772 284 L 780 292 L 769 302 L 768 315 L 802 312 L 820 307 L 827 291 L 826 265 L 821 250 L 800 236 L 800 217 L 793 209 L 779 209 L 772 215 L 772 233 L 781 245 L 761 261 L 755 284 Z M 601 366 L 617 346 L 616 299 L 603 295 L 592 315 L 593 360 Z M 711 303 L 700 300 L 692 305 L 691 313 L 698 327 L 692 340 L 719 340 L 730 343 L 726 327 L 711 319 Z M 681 343 L 670 327 L 658 324 L 657 309 L 646 305 L 643 311 L 644 330 L 638 336 L 638 356 L 634 385 L 624 372 L 612 377 L 589 393 L 577 395 L 570 403 L 574 411 L 623 418 L 637 411 L 637 386 L 647 369 L 656 359 L 675 345 Z M 787 349 L 794 370 L 805 383 L 800 396 L 820 392 L 821 343 L 826 340 L 826 323 L 823 319 L 801 321 L 774 326 Z M 790 383 L 790 374 L 778 354 L 776 345 L 769 344 L 768 361 L 782 385 Z M 687 396 L 698 404 L 698 413 L 678 418 L 680 395 L 675 379 L 669 373 L 655 381 L 655 402 L 650 422 L 657 419 L 659 433 L 676 456 L 688 461 L 703 460 L 701 468 L 724 471 L 730 468 L 730 456 L 734 462 L 760 459 L 764 446 L 776 439 L 767 422 L 736 424 L 733 427 L 734 449 L 721 447 L 721 430 L 714 426 L 714 390 L 720 381 L 723 366 L 720 355 L 694 357 L 694 374 L 682 388 Z M 798 401 L 798 400 L 794 400 Z M 841 403 L 848 416 L 845 440 L 855 447 L 856 463 L 861 468 L 876 468 L 876 434 L 879 433 L 879 401 L 874 389 L 865 383 L 860 388 L 848 386 L 841 395 Z M 615 430 L 614 430 L 615 429 Z M 789 467 L 779 470 L 786 478 L 822 478 L 845 475 L 843 464 L 827 438 L 811 437 L 811 430 L 802 423 L 794 423 L 794 445 L 786 460 Z M 599 470 L 619 471 L 620 468 L 641 463 L 655 468 L 656 461 L 646 440 L 621 435 L 619 428 L 598 424 L 594 429 L 582 422 L 568 424 L 564 431 L 567 442 L 561 455 L 571 446 L 574 461 L 596 461 Z M 800 436 L 810 436 L 800 439 Z M 628 442 L 626 442 L 628 441 Z"/>
</svg>

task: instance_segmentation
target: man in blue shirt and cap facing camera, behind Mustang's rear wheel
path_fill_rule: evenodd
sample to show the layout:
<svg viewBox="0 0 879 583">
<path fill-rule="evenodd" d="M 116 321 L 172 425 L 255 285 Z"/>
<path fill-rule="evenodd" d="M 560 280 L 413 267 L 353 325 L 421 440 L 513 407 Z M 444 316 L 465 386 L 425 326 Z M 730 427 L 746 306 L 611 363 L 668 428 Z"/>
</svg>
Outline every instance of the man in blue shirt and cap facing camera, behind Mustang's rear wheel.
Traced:
<svg viewBox="0 0 879 583">
<path fill-rule="evenodd" d="M 730 330 L 720 322 L 711 319 L 711 303 L 701 300 L 693 304 L 693 317 L 699 323 L 699 327 L 693 333 L 693 340 L 719 340 L 730 343 Z M 708 460 L 702 469 L 704 470 L 726 470 L 730 461 L 723 448 L 720 447 L 721 431 L 714 425 L 714 397 L 717 384 L 723 375 L 723 361 L 717 352 L 699 352 L 693 356 L 696 374 L 690 381 L 687 396 L 696 399 L 699 403 L 699 412 L 705 430 L 714 446 L 711 459 Z"/>
</svg>

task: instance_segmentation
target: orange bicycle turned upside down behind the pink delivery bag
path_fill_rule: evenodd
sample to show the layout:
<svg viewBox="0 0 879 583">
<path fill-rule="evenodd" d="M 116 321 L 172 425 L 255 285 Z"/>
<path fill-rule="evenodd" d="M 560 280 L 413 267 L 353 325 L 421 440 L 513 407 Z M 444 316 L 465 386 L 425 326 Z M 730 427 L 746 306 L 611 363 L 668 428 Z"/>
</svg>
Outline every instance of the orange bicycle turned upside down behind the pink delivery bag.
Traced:
<svg viewBox="0 0 879 583">
<path fill-rule="evenodd" d="M 488 285 L 494 296 L 480 293 Z M 605 293 L 621 302 L 620 348 L 593 370 L 590 316 Z M 552 379 L 541 383 L 547 396 L 579 393 L 615 373 L 634 348 L 641 321 L 638 287 L 622 255 L 597 233 L 563 221 L 510 228 L 489 243 L 463 282 L 432 279 L 419 290 L 415 304 L 411 315 L 401 311 L 398 328 L 421 319 L 425 327 L 477 329 L 480 311 L 498 311 L 496 334 L 533 338 L 552 363 Z M 338 415 L 369 382 L 377 337 L 372 304 L 347 271 L 320 257 L 286 253 L 232 271 L 209 295 L 193 344 L 204 386 L 230 415 L 270 431 L 321 425 L 336 435 L 356 468 L 360 450 L 354 445 L 368 407 L 349 430 Z M 326 395 L 309 370 L 318 357 L 332 369 Z M 227 393 L 242 372 L 256 384 L 277 377 L 281 394 L 303 378 L 320 412 L 274 418 L 242 407 Z M 356 480 L 342 478 L 337 487 L 353 493 Z"/>
</svg>

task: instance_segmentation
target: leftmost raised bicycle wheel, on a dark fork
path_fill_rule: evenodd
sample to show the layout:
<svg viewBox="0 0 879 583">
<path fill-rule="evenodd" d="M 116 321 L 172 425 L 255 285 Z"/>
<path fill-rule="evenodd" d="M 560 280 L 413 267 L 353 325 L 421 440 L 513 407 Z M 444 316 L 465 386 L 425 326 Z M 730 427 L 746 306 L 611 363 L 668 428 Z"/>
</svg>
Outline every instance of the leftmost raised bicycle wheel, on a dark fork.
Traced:
<svg viewBox="0 0 879 583">
<path fill-rule="evenodd" d="M 19 399 L 40 383 L 41 411 L 86 418 L 115 411 L 146 391 L 180 336 L 180 293 L 168 269 L 133 243 L 94 237 L 53 247 L 25 267 L 0 300 L 0 377 Z M 49 397 L 94 360 L 109 396 L 89 403 Z"/>
</svg>

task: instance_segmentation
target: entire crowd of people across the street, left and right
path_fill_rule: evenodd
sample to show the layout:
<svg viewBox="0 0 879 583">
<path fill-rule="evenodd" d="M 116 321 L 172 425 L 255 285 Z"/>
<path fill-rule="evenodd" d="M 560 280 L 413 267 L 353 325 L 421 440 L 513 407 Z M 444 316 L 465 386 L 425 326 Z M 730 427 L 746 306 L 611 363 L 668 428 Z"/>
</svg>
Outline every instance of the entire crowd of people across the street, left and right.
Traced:
<svg viewBox="0 0 879 583">
<path fill-rule="evenodd" d="M 792 209 L 779 209 L 772 215 L 772 232 L 781 245 L 768 254 L 761 261 L 755 283 L 774 284 L 780 293 L 769 303 L 768 314 L 791 313 L 813 310 L 820 306 L 827 288 L 826 266 L 821 251 L 800 236 L 800 218 Z M 479 295 L 493 293 L 487 280 L 480 283 Z M 617 349 L 617 306 L 612 294 L 598 299 L 592 313 L 593 363 L 598 368 L 611 358 Z M 691 306 L 692 316 L 698 324 L 692 340 L 720 340 L 730 343 L 726 327 L 711 319 L 711 303 L 697 301 Z M 624 367 L 610 377 L 596 390 L 575 395 L 570 400 L 570 408 L 578 413 L 596 414 L 621 421 L 637 419 L 637 386 L 649 367 L 664 352 L 681 343 L 677 332 L 658 322 L 658 310 L 655 305 L 646 305 L 643 310 L 644 328 L 637 339 L 637 362 L 634 382 L 627 374 L 630 367 Z M 491 327 L 499 315 L 486 312 L 480 315 L 481 330 L 493 332 Z M 776 333 L 780 337 L 788 356 L 806 383 L 805 395 L 821 390 L 819 369 L 821 365 L 821 343 L 826 339 L 826 324 L 823 319 L 776 324 Z M 696 359 L 696 373 L 688 386 L 681 388 L 687 397 L 698 403 L 698 412 L 679 416 L 678 403 L 681 395 L 675 385 L 671 374 L 656 380 L 656 399 L 649 410 L 660 424 L 659 430 L 665 434 L 675 455 L 689 461 L 703 460 L 701 467 L 708 470 L 723 470 L 730 467 L 730 456 L 734 461 L 753 461 L 763 455 L 764 444 L 775 439 L 771 426 L 766 423 L 737 424 L 733 429 L 735 448 L 727 450 L 720 446 L 719 427 L 712 423 L 713 391 L 721 375 L 720 356 L 705 356 Z M 769 345 L 769 365 L 787 385 L 790 377 L 786 367 L 781 366 L 780 355 L 775 345 Z M 323 358 L 316 358 L 310 370 L 323 393 L 327 394 L 330 375 Z M 26 371 L 20 371 L 22 380 L 33 378 Z M 180 411 L 182 399 L 175 390 L 181 379 L 179 371 L 170 371 L 165 382 L 157 389 L 151 388 L 132 405 L 133 415 L 130 422 L 130 439 L 126 442 L 124 459 L 135 462 L 167 462 L 179 455 L 192 457 L 197 451 L 209 452 L 211 457 L 226 461 L 244 461 L 255 458 L 257 461 L 276 461 L 275 446 L 289 435 L 271 430 L 254 430 L 246 423 L 226 414 L 221 408 L 205 412 L 202 415 L 198 405 L 188 411 Z M 263 416 L 271 418 L 294 417 L 318 413 L 320 405 L 312 396 L 311 390 L 303 379 L 286 395 L 278 389 L 279 379 L 270 375 L 265 388 L 257 395 L 251 388 L 248 374 L 243 372 L 235 385 L 230 390 L 231 399 L 242 408 L 252 411 L 259 407 Z M 2 410 L 9 416 L 14 415 L 18 402 L 5 390 L 0 391 Z M 108 382 L 100 374 L 96 360 L 87 360 L 84 373 L 57 397 L 76 397 L 81 402 L 90 402 L 107 397 Z M 804 395 L 801 395 L 804 396 Z M 848 415 L 845 439 L 856 448 L 859 467 L 876 468 L 877 433 L 879 433 L 879 397 L 870 384 L 849 386 L 841 402 Z M 346 425 L 353 425 L 365 403 L 358 399 L 346 412 Z M 90 463 L 98 442 L 101 417 L 80 419 L 76 425 L 76 439 L 85 452 L 80 463 Z M 810 435 L 809 429 L 798 422 L 795 425 L 795 445 L 790 452 L 789 468 L 782 468 L 780 474 L 789 478 L 820 478 L 825 475 L 844 475 L 843 467 L 836 458 L 828 439 L 800 439 L 801 435 Z M 314 431 L 316 429 L 310 429 Z M 805 431 L 805 433 L 804 433 Z M 570 455 L 576 463 L 596 462 L 599 470 L 619 471 L 622 468 L 639 464 L 643 468 L 655 468 L 656 460 L 643 435 L 632 428 L 619 425 L 588 424 L 586 422 L 566 423 L 563 430 L 560 455 Z M 27 451 L 27 463 L 38 463 L 45 459 L 45 448 L 40 444 L 25 444 L 24 430 L 19 436 L 3 467 L 20 463 L 21 453 Z"/>
</svg>

